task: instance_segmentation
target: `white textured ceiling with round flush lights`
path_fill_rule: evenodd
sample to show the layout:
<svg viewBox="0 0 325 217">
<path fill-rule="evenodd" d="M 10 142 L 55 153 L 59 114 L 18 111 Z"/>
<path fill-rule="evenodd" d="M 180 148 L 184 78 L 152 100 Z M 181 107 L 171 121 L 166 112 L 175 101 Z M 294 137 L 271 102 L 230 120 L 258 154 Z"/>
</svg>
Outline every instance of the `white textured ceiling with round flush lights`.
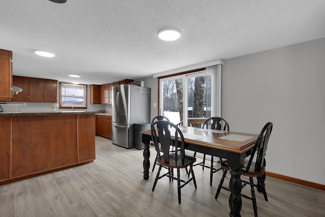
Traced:
<svg viewBox="0 0 325 217">
<path fill-rule="evenodd" d="M 157 32 L 166 27 L 179 29 L 181 38 L 159 40 Z M 13 51 L 14 75 L 85 84 L 139 79 L 324 37 L 324 0 L 0 3 L 0 49 Z"/>
</svg>

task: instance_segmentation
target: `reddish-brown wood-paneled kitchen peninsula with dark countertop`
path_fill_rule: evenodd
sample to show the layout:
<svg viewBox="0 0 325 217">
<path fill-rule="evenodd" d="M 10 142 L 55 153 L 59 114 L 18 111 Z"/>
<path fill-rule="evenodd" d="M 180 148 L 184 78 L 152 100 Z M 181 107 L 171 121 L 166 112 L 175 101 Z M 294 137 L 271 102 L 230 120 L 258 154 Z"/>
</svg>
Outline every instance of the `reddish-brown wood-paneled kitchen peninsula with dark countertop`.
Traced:
<svg viewBox="0 0 325 217">
<path fill-rule="evenodd" d="M 96 112 L 1 112 L 0 184 L 95 160 Z"/>
</svg>

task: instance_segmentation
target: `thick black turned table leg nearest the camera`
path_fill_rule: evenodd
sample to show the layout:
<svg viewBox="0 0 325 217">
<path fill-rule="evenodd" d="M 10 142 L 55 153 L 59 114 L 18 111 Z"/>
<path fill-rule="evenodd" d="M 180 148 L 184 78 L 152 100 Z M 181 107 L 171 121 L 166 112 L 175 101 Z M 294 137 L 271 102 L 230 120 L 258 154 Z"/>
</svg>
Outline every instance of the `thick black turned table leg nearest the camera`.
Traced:
<svg viewBox="0 0 325 217">
<path fill-rule="evenodd" d="M 242 172 L 240 169 L 232 169 L 230 174 L 231 178 L 229 180 L 229 188 L 231 193 L 229 195 L 229 216 L 240 217 L 240 210 L 242 209 L 242 199 L 240 197 L 240 193 L 242 191 L 242 181 L 240 176 Z"/>
</svg>

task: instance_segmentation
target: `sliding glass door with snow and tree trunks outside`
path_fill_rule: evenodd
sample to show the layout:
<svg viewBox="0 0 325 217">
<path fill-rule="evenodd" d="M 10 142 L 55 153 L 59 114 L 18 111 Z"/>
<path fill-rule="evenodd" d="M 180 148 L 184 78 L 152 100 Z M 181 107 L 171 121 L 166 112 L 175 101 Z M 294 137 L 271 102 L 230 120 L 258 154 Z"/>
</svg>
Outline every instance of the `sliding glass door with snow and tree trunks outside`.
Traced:
<svg viewBox="0 0 325 217">
<path fill-rule="evenodd" d="M 213 75 L 206 70 L 161 78 L 159 113 L 183 126 L 201 127 L 213 111 Z"/>
</svg>

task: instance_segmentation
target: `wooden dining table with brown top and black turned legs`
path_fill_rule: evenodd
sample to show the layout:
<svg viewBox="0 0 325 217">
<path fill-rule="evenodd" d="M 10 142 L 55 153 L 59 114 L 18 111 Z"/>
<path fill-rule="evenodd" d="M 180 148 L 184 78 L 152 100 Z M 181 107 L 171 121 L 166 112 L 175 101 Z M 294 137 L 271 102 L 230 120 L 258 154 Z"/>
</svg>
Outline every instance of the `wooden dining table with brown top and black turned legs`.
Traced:
<svg viewBox="0 0 325 217">
<path fill-rule="evenodd" d="M 244 159 L 250 156 L 258 135 L 185 126 L 181 126 L 179 129 L 183 133 L 186 149 L 227 159 L 228 165 L 231 168 L 231 177 L 229 180 L 229 188 L 231 191 L 229 196 L 229 215 L 241 216 L 241 168 L 244 166 Z M 141 134 L 142 142 L 144 143 L 143 178 L 148 179 L 151 131 L 145 130 Z"/>
</svg>

